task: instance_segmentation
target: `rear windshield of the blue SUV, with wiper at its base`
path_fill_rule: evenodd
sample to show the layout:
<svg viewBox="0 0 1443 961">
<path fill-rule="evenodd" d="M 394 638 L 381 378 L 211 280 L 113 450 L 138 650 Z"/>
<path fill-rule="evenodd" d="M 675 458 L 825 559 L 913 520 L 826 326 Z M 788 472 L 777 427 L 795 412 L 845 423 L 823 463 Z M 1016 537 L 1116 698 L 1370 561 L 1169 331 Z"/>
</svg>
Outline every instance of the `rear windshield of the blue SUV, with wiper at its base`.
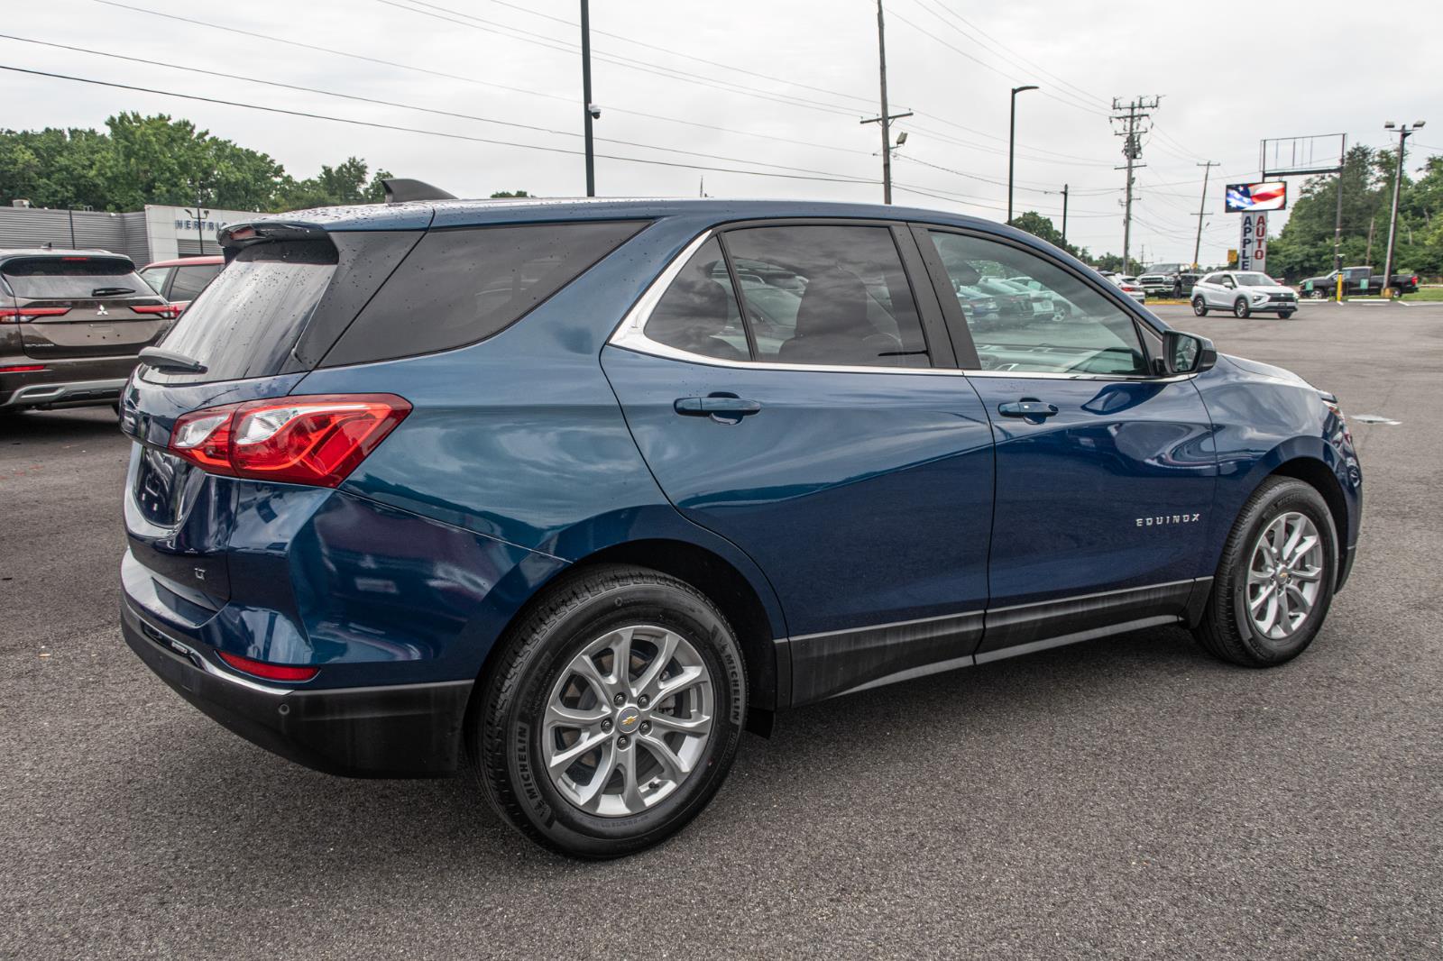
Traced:
<svg viewBox="0 0 1443 961">
<path fill-rule="evenodd" d="M 163 342 L 167 351 L 205 364 L 205 374 L 152 372 L 147 379 L 227 381 L 278 372 L 335 270 L 336 248 L 329 241 L 242 248 Z"/>
</svg>

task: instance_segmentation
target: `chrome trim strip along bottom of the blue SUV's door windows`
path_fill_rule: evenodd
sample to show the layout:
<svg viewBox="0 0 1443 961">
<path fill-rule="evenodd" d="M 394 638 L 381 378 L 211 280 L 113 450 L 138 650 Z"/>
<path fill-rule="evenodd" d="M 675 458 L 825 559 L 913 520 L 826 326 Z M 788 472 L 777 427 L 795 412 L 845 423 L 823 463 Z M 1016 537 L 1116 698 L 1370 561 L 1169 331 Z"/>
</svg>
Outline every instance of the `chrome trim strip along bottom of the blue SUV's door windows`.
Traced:
<svg viewBox="0 0 1443 961">
<path fill-rule="evenodd" d="M 691 351 L 683 351 L 681 348 L 674 348 L 668 343 L 659 341 L 652 341 L 646 336 L 646 322 L 651 319 L 652 310 L 661 302 L 662 294 L 681 273 L 681 268 L 687 266 L 687 261 L 696 255 L 701 247 L 717 237 L 722 231 L 710 228 L 698 234 L 690 244 L 681 248 L 667 267 L 657 274 L 657 278 L 648 284 L 642 296 L 636 299 L 632 309 L 626 312 L 622 317 L 620 325 L 608 338 L 608 343 L 612 346 L 619 346 L 626 351 L 633 351 L 636 354 L 646 354 L 649 356 L 661 356 L 671 361 L 684 361 L 687 364 L 704 364 L 707 367 L 722 367 L 733 368 L 742 371 L 798 371 L 798 372 L 827 372 L 827 374 L 911 374 L 924 377 L 1027 377 L 1027 378 L 1042 378 L 1051 381 L 1146 381 L 1150 384 L 1170 384 L 1175 381 L 1185 381 L 1196 374 L 1175 374 L 1172 377 L 1149 377 L 1146 374 L 1128 375 L 1128 374 L 1055 374 L 1046 371 L 964 371 L 961 368 L 944 368 L 944 367 L 860 367 L 860 365 L 843 365 L 843 364 L 773 364 L 769 361 L 726 361 L 716 356 L 707 356 L 704 354 L 693 354 Z"/>
</svg>

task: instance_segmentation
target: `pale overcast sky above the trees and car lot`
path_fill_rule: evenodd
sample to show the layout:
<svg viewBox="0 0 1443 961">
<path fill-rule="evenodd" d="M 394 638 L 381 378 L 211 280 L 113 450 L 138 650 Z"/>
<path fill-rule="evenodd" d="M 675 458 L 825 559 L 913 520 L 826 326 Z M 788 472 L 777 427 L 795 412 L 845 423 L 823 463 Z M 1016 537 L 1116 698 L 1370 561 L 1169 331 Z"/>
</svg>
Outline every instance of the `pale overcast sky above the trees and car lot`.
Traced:
<svg viewBox="0 0 1443 961">
<path fill-rule="evenodd" d="M 23 74 L 3 74 L 7 127 L 101 127 L 123 110 L 167 113 L 270 153 L 296 176 L 354 154 L 459 196 L 584 193 L 580 156 L 466 140 L 580 150 L 577 0 L 6 7 L 4 33 L 144 61 L 0 39 L 0 63 L 9 66 L 457 137 Z M 1263 137 L 1345 131 L 1349 143 L 1385 146 L 1384 120 L 1431 120 L 1436 130 L 1408 141 L 1408 166 L 1443 153 L 1427 146 L 1443 144 L 1443 111 L 1436 110 L 1443 74 L 1423 48 L 1405 42 L 1407 25 L 1436 23 L 1434 4 L 1423 0 L 1365 9 L 1313 0 L 1247 16 L 1196 14 L 1157 0 L 886 0 L 886 13 L 892 113 L 915 111 L 895 126 L 908 133 L 893 163 L 898 203 L 1004 219 L 1009 89 L 1022 84 L 1042 89 L 1017 98 L 1016 209 L 1061 222 L 1058 192 L 1071 185 L 1068 238 L 1094 253 L 1123 247 L 1124 175 L 1114 169 L 1123 141 L 1107 117 L 1114 97 L 1162 97 L 1144 137 L 1147 166 L 1137 173 L 1134 206 L 1133 254 L 1149 261 L 1192 260 L 1202 160 L 1221 166 L 1212 169 L 1201 260 L 1221 261 L 1237 245 L 1237 216 L 1221 212 L 1221 185 L 1257 177 Z M 696 196 L 704 177 L 711 196 L 880 201 L 880 136 L 876 124 L 859 123 L 877 113 L 874 0 L 593 0 L 592 30 L 597 153 L 684 164 L 600 157 L 599 193 Z"/>
</svg>

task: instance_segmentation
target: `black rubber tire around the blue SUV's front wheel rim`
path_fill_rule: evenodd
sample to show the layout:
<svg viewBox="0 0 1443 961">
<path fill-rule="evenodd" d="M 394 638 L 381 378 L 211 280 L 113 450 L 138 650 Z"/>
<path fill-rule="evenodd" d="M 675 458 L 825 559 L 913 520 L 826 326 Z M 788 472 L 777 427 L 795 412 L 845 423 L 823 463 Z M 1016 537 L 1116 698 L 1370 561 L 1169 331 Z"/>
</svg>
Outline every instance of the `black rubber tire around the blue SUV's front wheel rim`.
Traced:
<svg viewBox="0 0 1443 961">
<path fill-rule="evenodd" d="M 1303 623 L 1287 638 L 1274 641 L 1258 632 L 1247 612 L 1247 574 L 1253 547 L 1261 531 L 1280 514 L 1299 512 L 1317 528 L 1323 548 L 1323 571 L 1317 597 Z M 1338 580 L 1338 531 L 1317 489 L 1293 478 L 1268 478 L 1238 514 L 1222 561 L 1212 580 L 1202 622 L 1193 628 L 1198 644 L 1222 661 L 1242 667 L 1276 667 L 1302 654 L 1317 636 L 1328 618 Z"/>
</svg>

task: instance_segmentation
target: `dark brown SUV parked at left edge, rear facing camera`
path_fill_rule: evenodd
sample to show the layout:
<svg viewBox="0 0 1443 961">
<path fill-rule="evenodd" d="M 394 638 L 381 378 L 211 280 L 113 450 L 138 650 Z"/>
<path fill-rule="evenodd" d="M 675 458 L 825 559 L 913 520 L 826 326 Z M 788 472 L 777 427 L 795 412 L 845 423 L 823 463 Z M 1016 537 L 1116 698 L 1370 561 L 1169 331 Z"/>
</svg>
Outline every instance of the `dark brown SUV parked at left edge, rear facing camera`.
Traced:
<svg viewBox="0 0 1443 961">
<path fill-rule="evenodd" d="M 176 313 L 128 257 L 0 251 L 0 411 L 115 404 Z"/>
</svg>

